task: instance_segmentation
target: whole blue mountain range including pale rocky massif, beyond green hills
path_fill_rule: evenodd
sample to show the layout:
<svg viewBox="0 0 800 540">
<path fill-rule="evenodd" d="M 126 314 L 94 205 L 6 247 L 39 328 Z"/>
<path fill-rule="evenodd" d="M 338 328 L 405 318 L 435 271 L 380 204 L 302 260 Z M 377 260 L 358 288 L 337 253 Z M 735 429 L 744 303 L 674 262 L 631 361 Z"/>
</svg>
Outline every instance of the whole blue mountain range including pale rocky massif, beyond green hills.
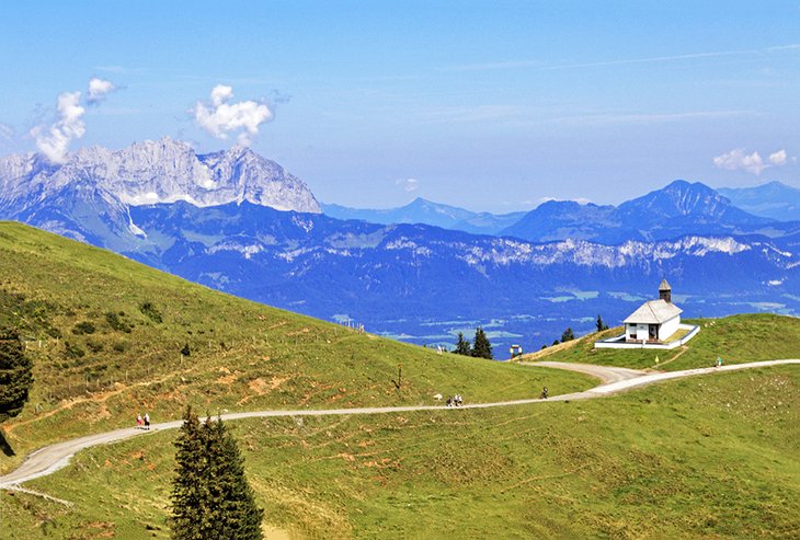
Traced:
<svg viewBox="0 0 800 540">
<path fill-rule="evenodd" d="M 414 343 L 452 344 L 482 325 L 501 348 L 538 348 L 568 325 L 590 330 L 597 313 L 617 323 L 664 276 L 687 315 L 800 312 L 797 223 L 747 214 L 699 183 L 618 207 L 546 203 L 504 237 L 334 219 L 249 149 L 196 154 L 170 139 L 81 150 L 61 166 L 12 156 L 0 185 L 0 218 Z M 476 218 L 415 203 L 409 219 Z"/>
</svg>

